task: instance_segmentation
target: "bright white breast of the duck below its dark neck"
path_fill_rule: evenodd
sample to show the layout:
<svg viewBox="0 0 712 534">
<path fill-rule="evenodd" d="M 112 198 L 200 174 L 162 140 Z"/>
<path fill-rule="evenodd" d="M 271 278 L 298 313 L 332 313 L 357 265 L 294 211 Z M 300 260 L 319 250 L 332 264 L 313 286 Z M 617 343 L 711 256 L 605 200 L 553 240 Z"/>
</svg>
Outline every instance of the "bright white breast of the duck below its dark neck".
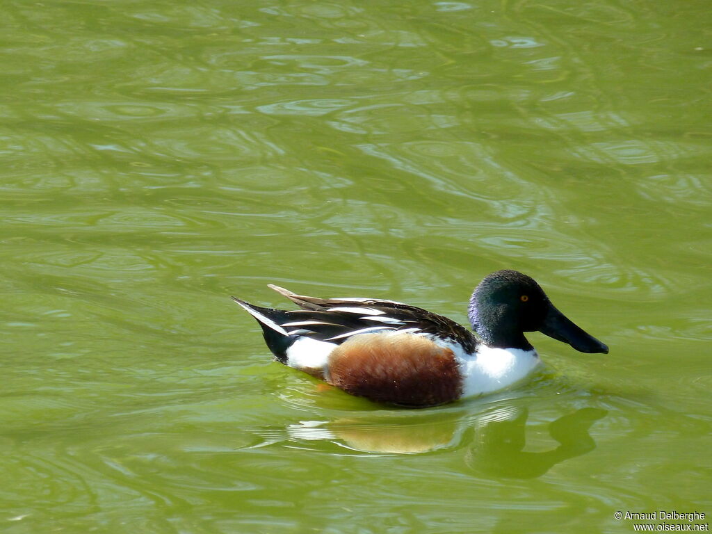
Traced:
<svg viewBox="0 0 712 534">
<path fill-rule="evenodd" d="M 463 397 L 496 392 L 525 379 L 540 364 L 535 350 L 496 349 L 480 345 L 475 355 L 456 352 L 463 377 Z"/>
</svg>

